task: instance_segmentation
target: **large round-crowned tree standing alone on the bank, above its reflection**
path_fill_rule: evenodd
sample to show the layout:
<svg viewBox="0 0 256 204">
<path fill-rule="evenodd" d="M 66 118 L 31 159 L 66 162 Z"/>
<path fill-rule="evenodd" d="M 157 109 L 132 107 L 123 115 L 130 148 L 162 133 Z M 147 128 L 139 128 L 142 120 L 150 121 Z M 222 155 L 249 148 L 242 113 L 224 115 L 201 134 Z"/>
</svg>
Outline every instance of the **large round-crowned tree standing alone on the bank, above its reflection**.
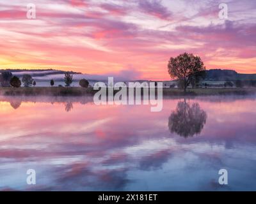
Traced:
<svg viewBox="0 0 256 204">
<path fill-rule="evenodd" d="M 178 78 L 183 84 L 184 92 L 196 75 L 201 71 L 205 71 L 204 62 L 198 56 L 193 54 L 180 54 L 177 57 L 171 57 L 168 62 L 168 73 L 172 78 Z M 200 78 L 198 78 L 199 80 Z"/>
</svg>

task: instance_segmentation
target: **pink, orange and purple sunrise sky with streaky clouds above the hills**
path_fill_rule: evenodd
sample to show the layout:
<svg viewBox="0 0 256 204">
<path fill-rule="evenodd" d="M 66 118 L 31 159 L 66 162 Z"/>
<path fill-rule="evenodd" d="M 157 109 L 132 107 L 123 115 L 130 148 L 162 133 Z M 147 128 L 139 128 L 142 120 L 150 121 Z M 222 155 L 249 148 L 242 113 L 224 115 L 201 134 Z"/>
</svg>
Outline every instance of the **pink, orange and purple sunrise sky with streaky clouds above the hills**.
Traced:
<svg viewBox="0 0 256 204">
<path fill-rule="evenodd" d="M 256 73 L 255 19 L 255 0 L 1 0 L 0 69 L 168 80 L 170 57 L 189 52 L 207 69 Z"/>
</svg>

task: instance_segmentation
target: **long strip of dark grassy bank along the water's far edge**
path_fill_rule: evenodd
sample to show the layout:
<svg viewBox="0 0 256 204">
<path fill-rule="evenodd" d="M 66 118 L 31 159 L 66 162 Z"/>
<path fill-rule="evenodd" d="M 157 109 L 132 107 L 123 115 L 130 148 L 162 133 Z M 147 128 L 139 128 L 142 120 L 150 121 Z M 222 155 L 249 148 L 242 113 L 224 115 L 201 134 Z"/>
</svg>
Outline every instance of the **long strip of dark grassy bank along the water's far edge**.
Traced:
<svg viewBox="0 0 256 204">
<path fill-rule="evenodd" d="M 81 87 L 0 87 L 2 96 L 93 96 L 93 88 Z M 115 91 L 116 92 L 116 91 Z M 232 88 L 232 89 L 188 89 L 186 94 L 182 89 L 163 89 L 163 96 L 211 96 L 211 95 L 247 95 L 256 94 L 256 88 Z"/>
</svg>

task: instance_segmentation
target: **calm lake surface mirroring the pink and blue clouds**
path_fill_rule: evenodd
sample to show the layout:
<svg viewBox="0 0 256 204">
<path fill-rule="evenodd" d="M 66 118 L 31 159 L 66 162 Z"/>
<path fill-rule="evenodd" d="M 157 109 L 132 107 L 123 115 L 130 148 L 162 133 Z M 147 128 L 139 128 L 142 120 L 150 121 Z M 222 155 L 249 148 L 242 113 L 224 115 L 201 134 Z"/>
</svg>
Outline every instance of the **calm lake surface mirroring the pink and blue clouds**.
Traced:
<svg viewBox="0 0 256 204">
<path fill-rule="evenodd" d="M 256 190 L 252 97 L 95 106 L 86 98 L 0 98 L 0 190 Z M 228 170 L 228 185 L 218 171 Z M 36 170 L 36 185 L 26 171 Z"/>
</svg>

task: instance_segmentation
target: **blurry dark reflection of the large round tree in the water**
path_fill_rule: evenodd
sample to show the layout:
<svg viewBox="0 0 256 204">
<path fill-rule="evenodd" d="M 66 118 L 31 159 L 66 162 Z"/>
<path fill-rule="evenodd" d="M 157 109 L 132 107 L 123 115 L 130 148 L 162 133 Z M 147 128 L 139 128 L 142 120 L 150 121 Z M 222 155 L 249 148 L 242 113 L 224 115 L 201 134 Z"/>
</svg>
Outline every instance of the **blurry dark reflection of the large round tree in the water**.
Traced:
<svg viewBox="0 0 256 204">
<path fill-rule="evenodd" d="M 180 101 L 169 117 L 168 126 L 171 133 L 177 133 L 187 138 L 201 133 L 207 119 L 207 114 L 200 109 L 198 103 L 189 104 Z"/>
</svg>

